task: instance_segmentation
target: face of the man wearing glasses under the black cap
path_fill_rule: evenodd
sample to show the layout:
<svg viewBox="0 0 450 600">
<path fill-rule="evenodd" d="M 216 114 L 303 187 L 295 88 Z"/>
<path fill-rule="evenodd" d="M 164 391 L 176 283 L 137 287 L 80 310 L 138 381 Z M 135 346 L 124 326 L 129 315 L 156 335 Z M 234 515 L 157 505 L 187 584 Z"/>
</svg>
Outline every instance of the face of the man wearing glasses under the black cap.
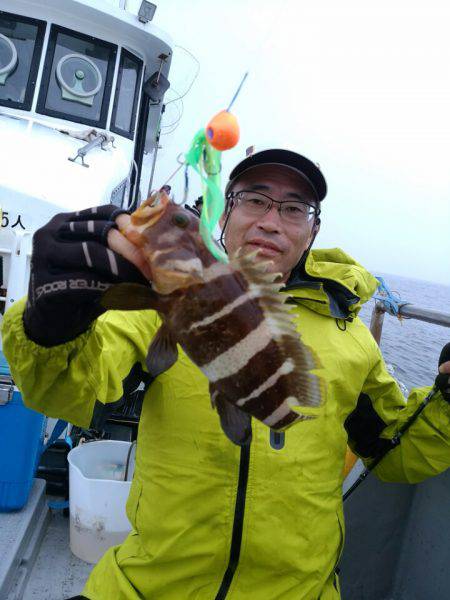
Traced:
<svg viewBox="0 0 450 600">
<path fill-rule="evenodd" d="M 274 200 L 286 202 L 302 200 L 315 205 L 314 192 L 310 184 L 292 169 L 282 165 L 259 165 L 244 173 L 230 190 L 254 190 Z M 308 248 L 314 229 L 314 218 L 304 223 L 290 223 L 280 215 L 279 204 L 261 216 L 248 215 L 239 205 L 231 211 L 225 231 L 225 246 L 230 256 L 239 248 L 244 253 L 258 251 L 262 260 L 272 261 L 268 269 L 282 273 L 283 281 Z M 222 217 L 222 226 L 224 218 Z"/>
</svg>

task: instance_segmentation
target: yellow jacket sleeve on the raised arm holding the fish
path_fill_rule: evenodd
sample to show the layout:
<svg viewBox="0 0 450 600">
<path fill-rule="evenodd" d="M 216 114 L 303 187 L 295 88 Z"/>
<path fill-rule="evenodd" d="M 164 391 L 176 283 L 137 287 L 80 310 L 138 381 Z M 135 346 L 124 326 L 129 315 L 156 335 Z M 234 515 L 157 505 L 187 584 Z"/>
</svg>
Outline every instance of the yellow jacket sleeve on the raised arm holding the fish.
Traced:
<svg viewBox="0 0 450 600">
<path fill-rule="evenodd" d="M 123 396 L 136 366 L 145 367 L 148 345 L 160 321 L 152 310 L 108 311 L 66 344 L 44 348 L 23 329 L 25 299 L 2 324 L 3 352 L 25 404 L 80 427 L 95 427 L 105 408 Z"/>
</svg>

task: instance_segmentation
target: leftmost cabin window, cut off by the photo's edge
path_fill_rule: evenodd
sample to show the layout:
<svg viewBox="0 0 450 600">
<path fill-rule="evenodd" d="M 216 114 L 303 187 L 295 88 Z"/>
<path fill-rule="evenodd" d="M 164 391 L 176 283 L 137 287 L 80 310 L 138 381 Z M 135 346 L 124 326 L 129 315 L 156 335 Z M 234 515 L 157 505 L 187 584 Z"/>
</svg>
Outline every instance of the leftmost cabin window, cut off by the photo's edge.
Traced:
<svg viewBox="0 0 450 600">
<path fill-rule="evenodd" d="M 30 110 L 45 22 L 0 10 L 0 105 Z"/>
</svg>

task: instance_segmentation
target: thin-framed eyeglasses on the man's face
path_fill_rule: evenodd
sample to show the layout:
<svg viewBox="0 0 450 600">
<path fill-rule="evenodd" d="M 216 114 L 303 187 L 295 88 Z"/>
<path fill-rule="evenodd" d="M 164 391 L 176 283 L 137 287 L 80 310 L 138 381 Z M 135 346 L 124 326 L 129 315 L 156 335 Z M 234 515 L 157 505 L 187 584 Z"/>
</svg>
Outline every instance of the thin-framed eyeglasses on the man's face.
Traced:
<svg viewBox="0 0 450 600">
<path fill-rule="evenodd" d="M 301 200 L 286 200 L 281 202 L 274 200 L 261 192 L 251 190 L 240 190 L 231 192 L 228 197 L 234 201 L 234 205 L 249 216 L 260 217 L 272 209 L 272 206 L 278 204 L 278 213 L 286 223 L 293 225 L 303 225 L 309 223 L 314 217 L 319 216 L 320 209 Z"/>
</svg>

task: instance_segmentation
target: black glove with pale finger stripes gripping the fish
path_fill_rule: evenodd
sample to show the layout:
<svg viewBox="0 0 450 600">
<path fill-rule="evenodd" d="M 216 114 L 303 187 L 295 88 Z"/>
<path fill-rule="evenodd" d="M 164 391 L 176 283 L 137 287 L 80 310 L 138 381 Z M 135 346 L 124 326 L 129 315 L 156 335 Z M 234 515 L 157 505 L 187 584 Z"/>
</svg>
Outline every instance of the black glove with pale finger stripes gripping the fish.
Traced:
<svg viewBox="0 0 450 600">
<path fill-rule="evenodd" d="M 112 284 L 149 284 L 107 246 L 114 219 L 123 213 L 111 204 L 61 213 L 36 231 L 23 316 L 32 341 L 47 347 L 68 342 L 105 312 L 100 299 Z"/>
</svg>

